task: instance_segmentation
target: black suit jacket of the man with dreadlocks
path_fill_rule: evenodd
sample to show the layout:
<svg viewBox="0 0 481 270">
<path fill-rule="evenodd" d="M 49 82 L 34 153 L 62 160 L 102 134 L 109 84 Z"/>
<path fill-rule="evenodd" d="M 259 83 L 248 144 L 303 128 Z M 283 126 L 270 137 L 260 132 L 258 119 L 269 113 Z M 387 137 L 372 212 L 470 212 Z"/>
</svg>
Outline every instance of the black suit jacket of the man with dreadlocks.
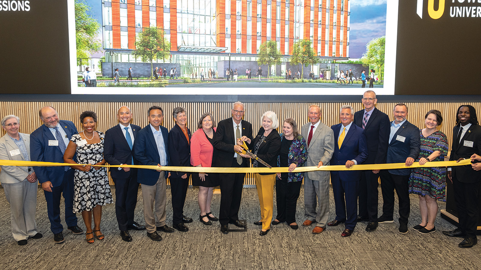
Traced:
<svg viewBox="0 0 481 270">
<path fill-rule="evenodd" d="M 460 158 L 469 159 L 474 153 L 481 153 L 481 126 L 471 124 L 468 131 L 461 138 L 461 142 L 456 140 L 460 125 L 453 128 L 453 146 L 449 160 L 459 160 Z M 465 141 L 473 142 L 473 147 L 464 146 Z M 476 183 L 481 181 L 481 171 L 474 171 L 471 165 L 452 167 L 453 177 L 461 183 Z"/>
</svg>

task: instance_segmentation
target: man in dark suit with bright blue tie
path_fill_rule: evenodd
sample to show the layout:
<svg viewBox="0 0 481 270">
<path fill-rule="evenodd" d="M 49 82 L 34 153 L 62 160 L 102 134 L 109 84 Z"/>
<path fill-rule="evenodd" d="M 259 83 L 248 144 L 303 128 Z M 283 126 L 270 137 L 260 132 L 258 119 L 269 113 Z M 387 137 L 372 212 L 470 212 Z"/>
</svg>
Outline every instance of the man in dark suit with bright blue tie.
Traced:
<svg viewBox="0 0 481 270">
<path fill-rule="evenodd" d="M 140 130 L 138 125 L 130 123 L 132 112 L 127 106 L 117 110 L 118 125 L 105 132 L 103 157 L 110 165 L 133 165 L 132 147 Z M 132 241 L 128 230 L 145 230 L 145 226 L 134 221 L 137 205 L 137 169 L 110 168 L 110 176 L 115 184 L 115 215 L 119 224 L 120 236 L 126 242 Z"/>
</svg>

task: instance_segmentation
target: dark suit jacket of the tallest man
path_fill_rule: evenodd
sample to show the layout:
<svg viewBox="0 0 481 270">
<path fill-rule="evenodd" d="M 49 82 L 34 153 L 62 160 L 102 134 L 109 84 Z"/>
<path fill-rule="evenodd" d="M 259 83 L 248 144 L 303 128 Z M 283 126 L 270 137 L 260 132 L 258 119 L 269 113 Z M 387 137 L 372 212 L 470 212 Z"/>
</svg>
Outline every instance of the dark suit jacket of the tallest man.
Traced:
<svg viewBox="0 0 481 270">
<path fill-rule="evenodd" d="M 354 124 L 362 128 L 362 120 L 364 118 L 364 110 L 358 110 L 354 113 Z M 374 108 L 367 121 L 364 134 L 367 138 L 367 160 L 362 164 L 381 164 L 386 159 L 389 142 L 389 117 L 384 112 Z"/>
</svg>

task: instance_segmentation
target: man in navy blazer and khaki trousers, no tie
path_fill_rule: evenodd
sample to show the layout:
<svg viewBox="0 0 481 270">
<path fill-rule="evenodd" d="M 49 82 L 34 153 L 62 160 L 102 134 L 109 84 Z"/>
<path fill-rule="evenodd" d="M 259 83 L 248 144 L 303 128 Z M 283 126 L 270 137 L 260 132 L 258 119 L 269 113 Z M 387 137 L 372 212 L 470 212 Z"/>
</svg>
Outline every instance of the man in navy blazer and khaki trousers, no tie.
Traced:
<svg viewBox="0 0 481 270">
<path fill-rule="evenodd" d="M 134 159 L 139 162 L 139 165 L 167 166 L 169 131 L 161 125 L 164 120 L 164 110 L 159 106 L 152 106 L 148 110 L 148 116 L 149 124 L 139 131 L 134 141 L 132 148 Z M 174 232 L 174 229 L 165 224 L 166 173 L 150 169 L 139 169 L 137 172 L 137 182 L 142 187 L 145 228 L 147 236 L 153 241 L 162 240 L 162 236 L 157 231 Z M 153 214 L 154 201 L 157 220 Z"/>
</svg>

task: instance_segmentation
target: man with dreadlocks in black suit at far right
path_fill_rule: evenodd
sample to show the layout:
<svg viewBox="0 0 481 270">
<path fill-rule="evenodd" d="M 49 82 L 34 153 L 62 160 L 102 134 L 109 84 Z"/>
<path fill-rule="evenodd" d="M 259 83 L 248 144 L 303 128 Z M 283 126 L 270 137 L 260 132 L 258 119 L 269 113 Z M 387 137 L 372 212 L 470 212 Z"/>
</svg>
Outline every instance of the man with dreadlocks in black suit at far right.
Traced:
<svg viewBox="0 0 481 270">
<path fill-rule="evenodd" d="M 453 129 L 453 145 L 449 160 L 466 160 L 473 154 L 481 153 L 481 126 L 476 110 L 471 105 L 461 105 L 456 113 L 456 126 Z M 479 188 L 481 171 L 474 166 L 454 166 L 448 168 L 447 177 L 453 183 L 459 225 L 445 235 L 464 237 L 459 247 L 472 247 L 478 243 L 476 228 L 479 220 Z"/>
</svg>

